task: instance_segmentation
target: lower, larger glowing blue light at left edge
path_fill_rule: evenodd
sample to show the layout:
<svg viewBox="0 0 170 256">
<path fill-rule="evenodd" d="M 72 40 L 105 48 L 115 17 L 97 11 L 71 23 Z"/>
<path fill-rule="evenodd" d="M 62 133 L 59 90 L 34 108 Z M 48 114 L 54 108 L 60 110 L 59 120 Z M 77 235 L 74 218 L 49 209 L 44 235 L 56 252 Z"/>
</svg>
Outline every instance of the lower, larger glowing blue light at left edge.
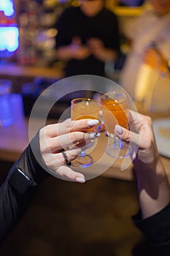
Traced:
<svg viewBox="0 0 170 256">
<path fill-rule="evenodd" d="M 16 26 L 0 27 L 0 35 L 0 50 L 17 50 L 19 31 Z"/>
</svg>

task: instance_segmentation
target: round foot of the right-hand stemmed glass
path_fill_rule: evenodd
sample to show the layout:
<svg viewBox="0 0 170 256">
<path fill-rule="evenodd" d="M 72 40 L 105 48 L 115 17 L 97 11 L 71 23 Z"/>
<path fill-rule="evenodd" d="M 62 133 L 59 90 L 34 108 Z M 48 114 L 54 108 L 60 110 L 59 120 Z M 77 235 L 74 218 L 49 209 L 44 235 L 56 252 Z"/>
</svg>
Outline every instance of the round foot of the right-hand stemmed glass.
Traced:
<svg viewBox="0 0 170 256">
<path fill-rule="evenodd" d="M 109 155 L 109 157 L 113 158 L 124 158 L 131 155 L 131 146 L 129 146 L 127 143 L 109 143 L 109 145 L 106 148 L 106 152 Z"/>
</svg>

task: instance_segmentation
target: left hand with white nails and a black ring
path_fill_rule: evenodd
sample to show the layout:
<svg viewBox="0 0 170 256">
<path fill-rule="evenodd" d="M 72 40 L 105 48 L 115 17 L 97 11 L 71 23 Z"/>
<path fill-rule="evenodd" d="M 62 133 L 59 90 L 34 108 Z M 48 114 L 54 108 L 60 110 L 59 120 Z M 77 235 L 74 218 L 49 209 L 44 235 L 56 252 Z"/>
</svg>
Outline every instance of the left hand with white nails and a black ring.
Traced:
<svg viewBox="0 0 170 256">
<path fill-rule="evenodd" d="M 65 154 L 68 162 L 72 162 L 80 154 L 80 146 L 90 143 L 96 138 L 95 132 L 82 132 L 94 127 L 94 120 L 66 120 L 60 124 L 50 124 L 40 129 L 39 143 L 42 159 L 47 165 L 47 171 L 69 181 L 85 182 L 85 176 L 77 173 L 66 164 L 62 148 L 66 148 Z M 72 149 L 68 149 L 68 148 Z"/>
</svg>

